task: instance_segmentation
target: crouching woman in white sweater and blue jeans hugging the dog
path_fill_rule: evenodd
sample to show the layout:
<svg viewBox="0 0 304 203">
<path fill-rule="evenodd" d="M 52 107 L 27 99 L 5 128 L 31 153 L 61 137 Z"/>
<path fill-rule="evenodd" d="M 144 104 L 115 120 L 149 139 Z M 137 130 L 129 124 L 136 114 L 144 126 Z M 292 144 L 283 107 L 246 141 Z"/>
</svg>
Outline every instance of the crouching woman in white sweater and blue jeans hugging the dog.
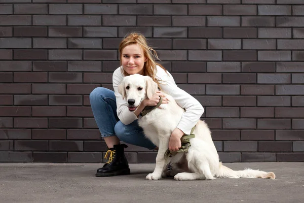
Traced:
<svg viewBox="0 0 304 203">
<path fill-rule="evenodd" d="M 157 53 L 147 45 L 147 41 L 140 33 L 132 32 L 126 36 L 119 46 L 121 66 L 113 73 L 112 82 L 115 92 L 97 87 L 90 94 L 90 102 L 96 123 L 109 150 L 105 158 L 108 161 L 102 168 L 98 168 L 97 177 L 117 176 L 130 174 L 129 165 L 124 155 L 124 148 L 120 141 L 157 149 L 157 147 L 144 137 L 142 128 L 138 126 L 137 119 L 145 106 L 156 106 L 160 97 L 162 104 L 167 104 L 162 91 L 170 94 L 176 103 L 186 111 L 178 126 L 173 130 L 169 149 L 177 151 L 181 147 L 180 138 L 184 133 L 189 134 L 191 128 L 198 122 L 204 109 L 193 96 L 178 88 L 171 74 L 159 63 Z M 185 67 L 186 68 L 186 67 Z M 149 76 L 159 85 L 162 91 L 156 92 L 151 99 L 144 99 L 135 111 L 129 110 L 126 101 L 118 93 L 118 85 L 124 76 L 141 74 Z"/>
</svg>

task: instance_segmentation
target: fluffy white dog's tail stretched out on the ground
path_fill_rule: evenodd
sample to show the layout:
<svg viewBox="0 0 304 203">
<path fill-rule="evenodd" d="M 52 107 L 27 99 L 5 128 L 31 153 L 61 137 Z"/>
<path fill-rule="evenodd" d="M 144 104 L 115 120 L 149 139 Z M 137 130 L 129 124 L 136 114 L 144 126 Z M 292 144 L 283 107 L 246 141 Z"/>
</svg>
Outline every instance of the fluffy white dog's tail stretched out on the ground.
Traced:
<svg viewBox="0 0 304 203">
<path fill-rule="evenodd" d="M 233 171 L 231 168 L 222 165 L 219 162 L 219 170 L 215 177 L 223 177 L 223 178 L 270 178 L 275 179 L 276 175 L 273 172 L 263 172 L 258 170 L 252 170 L 247 168 L 243 171 Z"/>
</svg>

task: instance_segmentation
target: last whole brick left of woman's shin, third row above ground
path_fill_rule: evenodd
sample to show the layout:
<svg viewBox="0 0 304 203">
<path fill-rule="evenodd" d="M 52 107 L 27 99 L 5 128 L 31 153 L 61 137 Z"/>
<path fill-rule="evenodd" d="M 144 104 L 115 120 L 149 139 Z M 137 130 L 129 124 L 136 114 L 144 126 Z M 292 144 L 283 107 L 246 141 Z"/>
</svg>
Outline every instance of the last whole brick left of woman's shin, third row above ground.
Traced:
<svg viewBox="0 0 304 203">
<path fill-rule="evenodd" d="M 67 140 L 100 140 L 99 129 L 67 129 Z"/>
</svg>

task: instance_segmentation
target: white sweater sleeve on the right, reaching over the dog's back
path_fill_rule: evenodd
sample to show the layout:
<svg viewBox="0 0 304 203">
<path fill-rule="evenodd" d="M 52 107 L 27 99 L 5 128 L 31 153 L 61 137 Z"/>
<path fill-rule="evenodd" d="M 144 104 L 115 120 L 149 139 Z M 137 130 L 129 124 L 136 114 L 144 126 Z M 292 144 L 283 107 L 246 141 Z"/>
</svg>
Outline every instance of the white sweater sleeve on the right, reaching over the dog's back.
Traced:
<svg viewBox="0 0 304 203">
<path fill-rule="evenodd" d="M 203 115 L 204 108 L 196 98 L 177 87 L 171 74 L 167 73 L 161 68 L 158 69 L 157 76 L 161 79 L 160 87 L 165 93 L 171 95 L 181 108 L 185 109 L 177 128 L 189 134 Z"/>
</svg>

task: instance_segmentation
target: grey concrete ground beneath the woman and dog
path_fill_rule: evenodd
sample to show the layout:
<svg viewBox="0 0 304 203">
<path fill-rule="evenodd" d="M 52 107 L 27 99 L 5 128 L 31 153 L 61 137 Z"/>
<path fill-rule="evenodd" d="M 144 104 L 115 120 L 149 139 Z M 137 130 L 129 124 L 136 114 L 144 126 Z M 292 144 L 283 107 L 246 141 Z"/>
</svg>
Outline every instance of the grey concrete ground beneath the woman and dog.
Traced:
<svg viewBox="0 0 304 203">
<path fill-rule="evenodd" d="M 304 202 L 303 162 L 224 163 L 276 174 L 270 179 L 145 180 L 155 164 L 130 164 L 131 175 L 95 177 L 101 164 L 1 163 L 0 202 Z"/>
</svg>

